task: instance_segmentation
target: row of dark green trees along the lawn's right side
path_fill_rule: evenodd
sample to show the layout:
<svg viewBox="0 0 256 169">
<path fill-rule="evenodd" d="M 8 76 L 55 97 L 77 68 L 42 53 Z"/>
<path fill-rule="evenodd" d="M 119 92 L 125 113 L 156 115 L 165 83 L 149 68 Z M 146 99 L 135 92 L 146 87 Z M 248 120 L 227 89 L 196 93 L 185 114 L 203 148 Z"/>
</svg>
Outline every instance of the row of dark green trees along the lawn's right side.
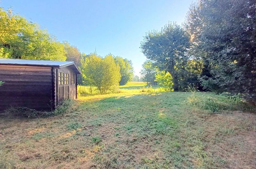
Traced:
<svg viewBox="0 0 256 169">
<path fill-rule="evenodd" d="M 200 0 L 191 4 L 183 26 L 168 23 L 148 32 L 141 51 L 171 75 L 174 91 L 193 83 L 255 100 L 255 39 L 255 0 Z"/>
</svg>

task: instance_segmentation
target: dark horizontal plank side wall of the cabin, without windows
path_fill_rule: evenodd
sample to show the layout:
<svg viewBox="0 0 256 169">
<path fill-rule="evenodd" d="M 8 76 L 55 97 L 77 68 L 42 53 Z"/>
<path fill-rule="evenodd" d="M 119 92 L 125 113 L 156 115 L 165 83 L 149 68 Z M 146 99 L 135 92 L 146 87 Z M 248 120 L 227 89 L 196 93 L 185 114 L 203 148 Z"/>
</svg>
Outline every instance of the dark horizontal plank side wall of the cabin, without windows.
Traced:
<svg viewBox="0 0 256 169">
<path fill-rule="evenodd" d="M 0 110 L 10 106 L 50 110 L 52 103 L 51 67 L 0 65 Z"/>
</svg>

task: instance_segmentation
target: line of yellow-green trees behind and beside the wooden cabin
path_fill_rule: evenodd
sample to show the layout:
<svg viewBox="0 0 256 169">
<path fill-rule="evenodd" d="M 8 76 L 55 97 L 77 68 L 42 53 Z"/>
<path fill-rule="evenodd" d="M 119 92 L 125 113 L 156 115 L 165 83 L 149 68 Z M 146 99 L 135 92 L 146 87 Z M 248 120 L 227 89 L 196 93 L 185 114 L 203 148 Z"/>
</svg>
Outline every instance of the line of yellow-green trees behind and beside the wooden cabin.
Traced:
<svg viewBox="0 0 256 169">
<path fill-rule="evenodd" d="M 67 41 L 58 42 L 36 23 L 0 8 L 0 58 L 74 61 L 82 76 L 78 83 L 97 87 L 100 93 L 112 92 L 132 80 L 130 60 L 112 54 L 86 55 Z"/>
</svg>

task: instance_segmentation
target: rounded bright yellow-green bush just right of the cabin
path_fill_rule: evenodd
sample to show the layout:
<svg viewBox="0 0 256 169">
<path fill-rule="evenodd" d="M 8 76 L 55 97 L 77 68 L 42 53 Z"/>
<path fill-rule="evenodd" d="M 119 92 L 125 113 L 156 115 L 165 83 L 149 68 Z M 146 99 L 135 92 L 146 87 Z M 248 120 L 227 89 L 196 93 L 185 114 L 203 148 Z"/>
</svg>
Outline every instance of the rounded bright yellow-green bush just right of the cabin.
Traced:
<svg viewBox="0 0 256 169">
<path fill-rule="evenodd" d="M 114 92 L 121 79 L 120 65 L 111 55 L 101 58 L 91 54 L 82 61 L 81 71 L 89 86 L 97 87 L 99 93 Z"/>
</svg>

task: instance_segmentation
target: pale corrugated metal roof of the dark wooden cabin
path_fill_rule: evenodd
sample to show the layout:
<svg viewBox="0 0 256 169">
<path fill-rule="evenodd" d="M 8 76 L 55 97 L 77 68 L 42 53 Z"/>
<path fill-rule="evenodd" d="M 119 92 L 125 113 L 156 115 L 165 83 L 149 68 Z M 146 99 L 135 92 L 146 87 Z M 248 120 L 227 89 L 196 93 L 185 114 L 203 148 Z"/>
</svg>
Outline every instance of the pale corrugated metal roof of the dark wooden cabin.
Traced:
<svg viewBox="0 0 256 169">
<path fill-rule="evenodd" d="M 43 66 L 59 66 L 74 64 L 72 61 L 51 61 L 51 60 L 25 60 L 25 59 L 0 59 L 0 64 L 28 64 L 28 65 L 43 65 Z"/>
</svg>

